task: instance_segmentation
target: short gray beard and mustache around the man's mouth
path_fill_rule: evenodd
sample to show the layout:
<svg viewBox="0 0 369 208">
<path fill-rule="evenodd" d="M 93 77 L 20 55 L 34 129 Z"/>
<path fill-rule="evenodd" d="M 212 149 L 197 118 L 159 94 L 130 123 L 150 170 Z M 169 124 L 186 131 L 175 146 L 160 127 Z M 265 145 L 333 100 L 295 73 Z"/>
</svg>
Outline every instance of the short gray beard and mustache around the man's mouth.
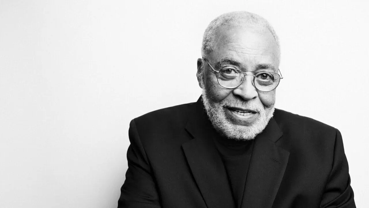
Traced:
<svg viewBox="0 0 369 208">
<path fill-rule="evenodd" d="M 252 140 L 261 133 L 269 120 L 273 117 L 274 106 L 271 109 L 265 109 L 264 106 L 256 105 L 252 102 L 242 101 L 224 101 L 219 103 L 212 102 L 208 93 L 203 87 L 202 98 L 206 113 L 213 124 L 215 130 L 222 136 L 234 140 Z M 259 112 L 258 118 L 250 125 L 237 125 L 232 123 L 225 114 L 224 106 L 239 106 L 242 108 L 253 109 Z"/>
</svg>

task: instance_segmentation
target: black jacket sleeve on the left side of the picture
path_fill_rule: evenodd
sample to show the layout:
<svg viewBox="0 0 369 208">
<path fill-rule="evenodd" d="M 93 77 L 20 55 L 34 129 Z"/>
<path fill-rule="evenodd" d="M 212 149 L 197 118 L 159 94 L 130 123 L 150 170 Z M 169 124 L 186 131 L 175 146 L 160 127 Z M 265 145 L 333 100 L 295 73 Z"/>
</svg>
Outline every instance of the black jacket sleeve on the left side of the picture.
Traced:
<svg viewBox="0 0 369 208">
<path fill-rule="evenodd" d="M 128 132 L 131 142 L 127 151 L 128 170 L 121 188 L 118 208 L 160 208 L 154 176 L 134 120 L 131 121 Z"/>
</svg>

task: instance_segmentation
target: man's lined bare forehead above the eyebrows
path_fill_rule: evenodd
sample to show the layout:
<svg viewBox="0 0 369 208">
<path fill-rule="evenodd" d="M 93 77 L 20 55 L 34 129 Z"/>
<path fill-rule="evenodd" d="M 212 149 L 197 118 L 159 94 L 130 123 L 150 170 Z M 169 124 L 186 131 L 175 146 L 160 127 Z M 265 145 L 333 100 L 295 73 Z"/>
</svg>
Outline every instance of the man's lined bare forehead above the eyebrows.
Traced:
<svg viewBox="0 0 369 208">
<path fill-rule="evenodd" d="M 277 68 L 277 44 L 270 31 L 251 27 L 221 27 L 211 55 L 213 61 L 225 57 L 245 65 L 272 64 Z"/>
</svg>

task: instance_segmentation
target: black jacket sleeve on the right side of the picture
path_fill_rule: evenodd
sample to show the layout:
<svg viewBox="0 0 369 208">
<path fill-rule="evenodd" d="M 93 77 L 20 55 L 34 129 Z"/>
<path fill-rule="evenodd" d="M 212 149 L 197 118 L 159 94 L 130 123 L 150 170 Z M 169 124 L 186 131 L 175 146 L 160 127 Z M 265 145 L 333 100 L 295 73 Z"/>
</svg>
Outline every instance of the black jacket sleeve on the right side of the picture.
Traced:
<svg viewBox="0 0 369 208">
<path fill-rule="evenodd" d="M 336 129 L 332 170 L 320 203 L 321 208 L 356 208 L 354 191 L 350 185 L 348 162 L 342 136 Z"/>
</svg>

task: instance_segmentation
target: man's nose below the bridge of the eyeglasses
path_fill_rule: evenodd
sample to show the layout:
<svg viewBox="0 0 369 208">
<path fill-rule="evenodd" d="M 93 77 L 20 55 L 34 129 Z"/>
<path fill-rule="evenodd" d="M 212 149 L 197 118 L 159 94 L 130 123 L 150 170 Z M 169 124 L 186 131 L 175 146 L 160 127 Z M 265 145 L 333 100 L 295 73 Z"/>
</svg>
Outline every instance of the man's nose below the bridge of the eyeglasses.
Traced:
<svg viewBox="0 0 369 208">
<path fill-rule="evenodd" d="M 258 91 L 255 86 L 252 84 L 254 76 L 245 75 L 244 82 L 239 85 L 237 88 L 233 89 L 233 94 L 241 97 L 244 100 L 251 100 L 258 97 Z"/>
</svg>

